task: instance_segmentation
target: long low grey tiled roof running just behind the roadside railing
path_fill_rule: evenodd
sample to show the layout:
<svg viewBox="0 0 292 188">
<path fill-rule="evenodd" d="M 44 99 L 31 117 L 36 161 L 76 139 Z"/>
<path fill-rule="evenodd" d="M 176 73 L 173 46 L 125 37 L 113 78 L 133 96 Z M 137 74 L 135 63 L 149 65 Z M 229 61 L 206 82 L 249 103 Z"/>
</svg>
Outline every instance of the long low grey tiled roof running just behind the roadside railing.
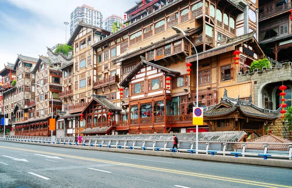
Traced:
<svg viewBox="0 0 292 188">
<path fill-rule="evenodd" d="M 94 138 L 110 138 L 110 139 L 131 139 L 131 140 L 172 140 L 173 134 L 143 134 L 143 135 L 112 135 L 112 136 L 96 136 Z M 195 141 L 195 133 L 175 133 L 179 141 Z M 230 141 L 237 142 L 246 137 L 244 131 L 218 131 L 198 133 L 199 141 Z"/>
</svg>

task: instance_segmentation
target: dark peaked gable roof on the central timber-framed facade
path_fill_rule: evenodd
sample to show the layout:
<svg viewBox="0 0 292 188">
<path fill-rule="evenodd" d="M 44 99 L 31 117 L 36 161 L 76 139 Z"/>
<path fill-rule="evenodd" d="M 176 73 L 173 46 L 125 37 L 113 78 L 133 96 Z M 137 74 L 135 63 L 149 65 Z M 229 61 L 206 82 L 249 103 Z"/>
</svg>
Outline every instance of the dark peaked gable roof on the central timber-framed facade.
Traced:
<svg viewBox="0 0 292 188">
<path fill-rule="evenodd" d="M 128 74 L 128 76 L 120 83 L 120 85 L 121 86 L 123 86 L 123 87 L 125 87 L 125 86 L 127 86 L 128 85 L 128 83 L 129 83 L 129 80 L 131 80 L 134 76 L 135 76 L 135 74 L 137 73 L 137 72 L 139 72 L 140 71 L 140 69 L 142 68 L 142 67 L 144 67 L 145 65 L 149 65 L 149 66 L 151 66 L 151 67 L 154 67 L 154 68 L 158 68 L 158 69 L 161 69 L 162 71 L 164 71 L 164 72 L 169 72 L 169 73 L 174 73 L 174 74 L 181 74 L 180 72 L 178 72 L 178 71 L 175 71 L 175 70 L 172 70 L 172 69 L 169 69 L 169 68 L 165 68 L 165 67 L 162 67 L 162 66 L 160 66 L 160 65 L 157 65 L 157 64 L 154 64 L 154 63 L 151 63 L 151 62 L 149 62 L 149 61 L 146 61 L 146 60 L 144 60 L 144 59 L 142 59 L 141 61 L 140 61 L 140 63 L 138 63 L 138 65 Z"/>
</svg>

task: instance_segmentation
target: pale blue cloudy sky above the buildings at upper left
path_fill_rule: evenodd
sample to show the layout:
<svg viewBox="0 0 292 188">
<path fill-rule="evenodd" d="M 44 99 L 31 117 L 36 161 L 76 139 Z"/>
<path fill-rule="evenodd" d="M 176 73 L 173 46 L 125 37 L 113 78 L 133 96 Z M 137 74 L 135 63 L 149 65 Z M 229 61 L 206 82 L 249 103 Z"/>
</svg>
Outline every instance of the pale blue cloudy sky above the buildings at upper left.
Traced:
<svg viewBox="0 0 292 188">
<path fill-rule="evenodd" d="M 0 70 L 4 63 L 15 63 L 17 54 L 38 58 L 46 47 L 66 42 L 65 21 L 83 4 L 102 13 L 123 17 L 135 0 L 0 0 Z M 67 26 L 67 40 L 70 24 Z"/>
</svg>

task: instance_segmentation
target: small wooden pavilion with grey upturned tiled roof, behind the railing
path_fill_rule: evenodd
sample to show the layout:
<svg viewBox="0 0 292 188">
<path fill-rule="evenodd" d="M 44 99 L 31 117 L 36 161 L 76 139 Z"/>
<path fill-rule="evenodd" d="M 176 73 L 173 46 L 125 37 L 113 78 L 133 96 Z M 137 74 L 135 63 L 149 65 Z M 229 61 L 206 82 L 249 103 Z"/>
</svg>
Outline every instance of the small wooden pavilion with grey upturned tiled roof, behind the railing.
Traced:
<svg viewBox="0 0 292 188">
<path fill-rule="evenodd" d="M 248 135 L 261 137 L 267 133 L 267 128 L 275 123 L 281 108 L 269 110 L 257 107 L 252 98 L 249 101 L 224 97 L 220 103 L 204 109 L 204 122 L 209 131 L 245 131 Z"/>
</svg>

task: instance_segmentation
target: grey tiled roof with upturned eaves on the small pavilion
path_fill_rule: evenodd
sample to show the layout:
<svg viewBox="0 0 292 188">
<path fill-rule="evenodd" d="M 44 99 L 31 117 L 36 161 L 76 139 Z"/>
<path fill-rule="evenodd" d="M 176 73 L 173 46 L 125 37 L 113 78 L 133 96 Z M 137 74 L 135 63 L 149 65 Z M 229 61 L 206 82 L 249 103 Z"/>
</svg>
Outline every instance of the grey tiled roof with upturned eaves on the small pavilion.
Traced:
<svg viewBox="0 0 292 188">
<path fill-rule="evenodd" d="M 236 110 L 241 111 L 244 115 L 250 117 L 275 119 L 279 117 L 281 108 L 277 110 L 269 110 L 260 108 L 252 103 L 252 101 L 244 101 L 235 98 L 221 98 L 221 102 L 213 106 L 204 108 L 204 116 L 222 116 L 227 115 Z"/>
</svg>

